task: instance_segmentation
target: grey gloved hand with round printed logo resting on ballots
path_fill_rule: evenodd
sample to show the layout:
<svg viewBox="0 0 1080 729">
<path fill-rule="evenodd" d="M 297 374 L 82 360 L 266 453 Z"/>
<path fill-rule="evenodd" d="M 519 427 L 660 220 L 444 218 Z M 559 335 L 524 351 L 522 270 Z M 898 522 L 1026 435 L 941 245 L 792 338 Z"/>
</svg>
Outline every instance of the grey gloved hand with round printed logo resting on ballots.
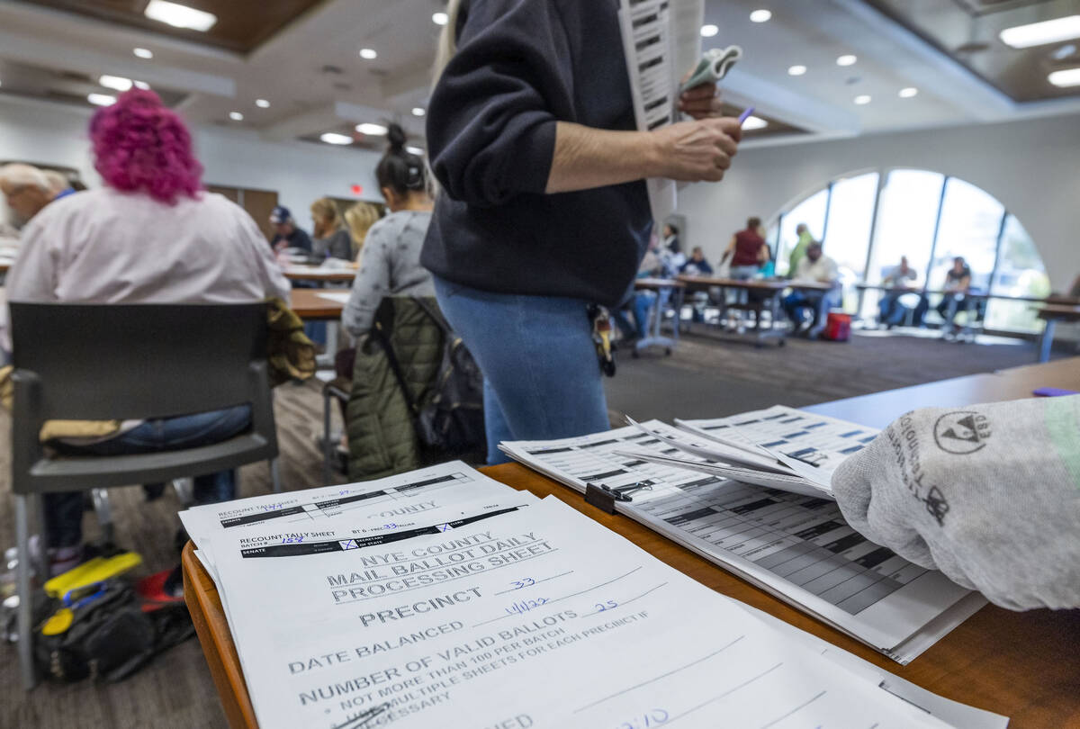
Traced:
<svg viewBox="0 0 1080 729">
<path fill-rule="evenodd" d="M 908 413 L 833 492 L 867 539 L 997 605 L 1080 607 L 1080 395 Z"/>
</svg>

